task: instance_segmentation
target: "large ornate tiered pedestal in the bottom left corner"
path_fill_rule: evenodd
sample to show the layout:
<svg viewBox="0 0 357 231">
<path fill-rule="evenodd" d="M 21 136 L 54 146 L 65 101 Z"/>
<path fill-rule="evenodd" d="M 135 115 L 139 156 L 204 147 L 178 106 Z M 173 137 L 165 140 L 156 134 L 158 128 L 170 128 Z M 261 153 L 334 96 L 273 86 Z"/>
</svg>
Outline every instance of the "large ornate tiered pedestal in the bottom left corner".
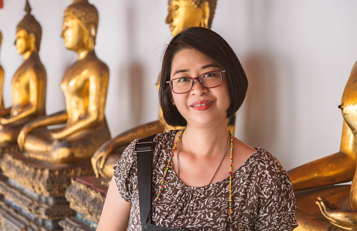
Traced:
<svg viewBox="0 0 357 231">
<path fill-rule="evenodd" d="M 93 174 L 91 163 L 50 165 L 22 153 L 0 160 L 0 230 L 62 230 L 59 221 L 75 216 L 64 197 L 71 179 Z"/>
</svg>

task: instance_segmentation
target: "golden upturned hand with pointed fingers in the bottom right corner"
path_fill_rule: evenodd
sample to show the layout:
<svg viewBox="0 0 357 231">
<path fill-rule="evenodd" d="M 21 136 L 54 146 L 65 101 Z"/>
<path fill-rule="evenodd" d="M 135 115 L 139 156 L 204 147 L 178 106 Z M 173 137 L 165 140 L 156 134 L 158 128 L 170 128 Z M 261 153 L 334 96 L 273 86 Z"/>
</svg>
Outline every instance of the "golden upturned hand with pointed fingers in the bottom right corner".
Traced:
<svg viewBox="0 0 357 231">
<path fill-rule="evenodd" d="M 356 210 L 338 210 L 336 205 L 329 203 L 321 196 L 318 196 L 316 204 L 320 207 L 322 215 L 333 225 L 347 230 L 357 227 Z"/>
</svg>

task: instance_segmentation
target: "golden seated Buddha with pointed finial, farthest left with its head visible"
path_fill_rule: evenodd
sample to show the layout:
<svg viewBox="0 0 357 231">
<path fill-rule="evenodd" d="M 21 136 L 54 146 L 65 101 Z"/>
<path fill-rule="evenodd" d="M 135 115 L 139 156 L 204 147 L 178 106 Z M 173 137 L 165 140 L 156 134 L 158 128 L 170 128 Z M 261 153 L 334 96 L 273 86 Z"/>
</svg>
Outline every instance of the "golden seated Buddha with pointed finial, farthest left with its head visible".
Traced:
<svg viewBox="0 0 357 231">
<path fill-rule="evenodd" d="M 17 145 L 21 127 L 46 114 L 46 70 L 39 59 L 42 29 L 30 14 L 26 1 L 26 15 L 17 25 L 15 45 L 24 62 L 12 78 L 12 107 L 0 110 L 0 145 Z M 0 71 L 1 89 L 3 70 Z M 2 98 L 1 98 L 2 101 Z"/>
</svg>

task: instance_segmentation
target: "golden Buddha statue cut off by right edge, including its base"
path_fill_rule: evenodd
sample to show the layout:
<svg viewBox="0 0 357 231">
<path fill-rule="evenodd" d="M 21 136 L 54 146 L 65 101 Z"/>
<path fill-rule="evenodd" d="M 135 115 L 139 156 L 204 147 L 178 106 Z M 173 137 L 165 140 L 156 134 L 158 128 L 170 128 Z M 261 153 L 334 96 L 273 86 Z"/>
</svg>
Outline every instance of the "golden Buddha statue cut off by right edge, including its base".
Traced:
<svg viewBox="0 0 357 231">
<path fill-rule="evenodd" d="M 357 230 L 356 80 L 357 62 L 342 95 L 340 151 L 289 171 L 296 196 L 297 231 Z M 352 184 L 336 185 L 348 181 Z"/>
</svg>

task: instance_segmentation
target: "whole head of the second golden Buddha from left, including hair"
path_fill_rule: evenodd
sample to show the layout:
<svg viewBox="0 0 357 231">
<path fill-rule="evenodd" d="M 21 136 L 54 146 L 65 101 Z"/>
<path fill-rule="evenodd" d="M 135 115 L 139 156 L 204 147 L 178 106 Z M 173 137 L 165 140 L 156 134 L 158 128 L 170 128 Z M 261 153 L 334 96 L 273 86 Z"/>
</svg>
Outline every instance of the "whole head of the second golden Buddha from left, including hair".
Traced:
<svg viewBox="0 0 357 231">
<path fill-rule="evenodd" d="M 88 0 L 73 0 L 64 10 L 62 36 L 69 50 L 93 50 L 98 28 L 98 10 Z"/>
</svg>

